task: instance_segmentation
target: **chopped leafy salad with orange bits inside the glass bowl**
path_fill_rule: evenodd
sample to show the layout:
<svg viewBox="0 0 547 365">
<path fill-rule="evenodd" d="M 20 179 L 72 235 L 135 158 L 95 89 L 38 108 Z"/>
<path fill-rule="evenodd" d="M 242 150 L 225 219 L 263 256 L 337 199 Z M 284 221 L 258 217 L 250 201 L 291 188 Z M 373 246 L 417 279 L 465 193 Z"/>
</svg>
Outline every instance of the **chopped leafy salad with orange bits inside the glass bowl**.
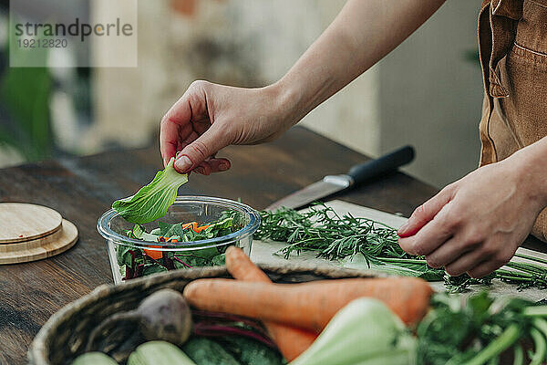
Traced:
<svg viewBox="0 0 547 365">
<path fill-rule="evenodd" d="M 129 238 L 162 245 L 142 249 L 133 245 L 117 245 L 116 256 L 124 280 L 147 276 L 168 270 L 190 268 L 193 266 L 224 265 L 225 246 L 199 248 L 190 251 L 159 251 L 154 248 L 177 248 L 181 242 L 194 242 L 229 235 L 241 228 L 237 212 L 224 212 L 212 224 L 197 226 L 191 224 L 158 223 L 158 228 L 146 232 L 144 226 L 135 224 L 132 230 L 124 232 Z M 168 245 L 172 244 L 172 245 Z"/>
</svg>

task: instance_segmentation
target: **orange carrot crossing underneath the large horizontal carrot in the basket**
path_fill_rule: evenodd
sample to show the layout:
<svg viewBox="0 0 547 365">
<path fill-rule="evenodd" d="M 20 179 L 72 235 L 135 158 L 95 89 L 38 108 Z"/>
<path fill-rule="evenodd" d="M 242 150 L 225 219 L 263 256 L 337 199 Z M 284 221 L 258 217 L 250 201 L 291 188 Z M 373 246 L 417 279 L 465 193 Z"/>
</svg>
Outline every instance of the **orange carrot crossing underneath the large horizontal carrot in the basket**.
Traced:
<svg viewBox="0 0 547 365">
<path fill-rule="evenodd" d="M 226 268 L 233 277 L 239 280 L 272 283 L 272 280 L 264 274 L 260 267 L 254 265 L 249 256 L 234 245 L 226 250 Z M 317 338 L 315 333 L 301 328 L 270 321 L 264 321 L 263 325 L 287 361 L 296 359 Z"/>
</svg>

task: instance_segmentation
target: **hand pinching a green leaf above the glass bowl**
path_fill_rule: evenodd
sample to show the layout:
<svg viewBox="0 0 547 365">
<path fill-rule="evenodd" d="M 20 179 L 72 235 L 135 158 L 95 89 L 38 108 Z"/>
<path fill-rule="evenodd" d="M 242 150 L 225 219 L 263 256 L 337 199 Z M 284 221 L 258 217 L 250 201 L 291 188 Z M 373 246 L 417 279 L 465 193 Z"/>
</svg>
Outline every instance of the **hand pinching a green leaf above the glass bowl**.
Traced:
<svg viewBox="0 0 547 365">
<path fill-rule="evenodd" d="M 242 89 L 194 81 L 161 120 L 164 164 L 175 157 L 181 173 L 228 170 L 230 162 L 215 157 L 222 148 L 273 141 L 298 121 L 283 99 L 275 84 Z"/>
</svg>

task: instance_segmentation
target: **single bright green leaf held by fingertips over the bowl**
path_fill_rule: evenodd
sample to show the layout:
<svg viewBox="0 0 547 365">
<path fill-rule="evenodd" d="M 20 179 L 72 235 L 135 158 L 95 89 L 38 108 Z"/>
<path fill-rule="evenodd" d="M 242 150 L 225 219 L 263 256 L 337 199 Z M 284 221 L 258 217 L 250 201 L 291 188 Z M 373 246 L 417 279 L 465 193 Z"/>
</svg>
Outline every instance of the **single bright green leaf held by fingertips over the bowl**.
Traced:
<svg viewBox="0 0 547 365">
<path fill-rule="evenodd" d="M 175 171 L 174 161 L 171 158 L 165 170 L 156 173 L 154 180 L 135 195 L 114 202 L 112 209 L 126 221 L 136 224 L 146 224 L 165 215 L 175 202 L 179 187 L 188 182 L 187 174 Z"/>
</svg>

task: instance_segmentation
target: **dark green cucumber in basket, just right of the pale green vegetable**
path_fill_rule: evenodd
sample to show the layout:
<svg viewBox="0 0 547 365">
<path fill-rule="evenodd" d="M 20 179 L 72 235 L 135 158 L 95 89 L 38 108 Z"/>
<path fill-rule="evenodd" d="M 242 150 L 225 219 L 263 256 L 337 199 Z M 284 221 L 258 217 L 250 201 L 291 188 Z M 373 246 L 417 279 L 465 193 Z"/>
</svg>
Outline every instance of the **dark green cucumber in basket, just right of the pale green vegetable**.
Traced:
<svg viewBox="0 0 547 365">
<path fill-rule="evenodd" d="M 189 339 L 182 349 L 197 365 L 241 365 L 230 352 L 211 339 Z"/>
</svg>

